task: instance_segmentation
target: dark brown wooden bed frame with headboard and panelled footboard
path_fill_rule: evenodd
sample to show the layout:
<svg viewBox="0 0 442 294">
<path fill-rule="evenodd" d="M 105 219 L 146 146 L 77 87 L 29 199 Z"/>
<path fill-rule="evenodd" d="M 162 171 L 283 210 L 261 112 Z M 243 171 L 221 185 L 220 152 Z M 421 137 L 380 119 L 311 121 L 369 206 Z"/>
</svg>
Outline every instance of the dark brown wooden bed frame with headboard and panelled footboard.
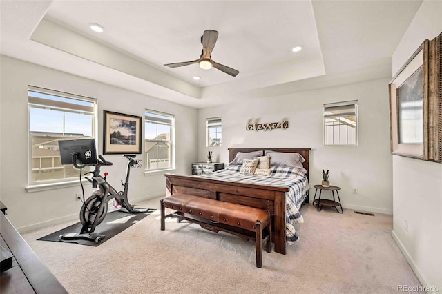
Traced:
<svg viewBox="0 0 442 294">
<path fill-rule="evenodd" d="M 229 148 L 229 162 L 235 158 L 238 152 L 258 150 L 299 153 L 305 159 L 303 166 L 307 170 L 307 177 L 309 176 L 310 148 Z M 289 188 L 219 181 L 186 175 L 166 174 L 165 176 L 169 195 L 185 193 L 269 211 L 272 216 L 272 240 L 275 243 L 275 251 L 282 254 L 286 253 L 285 193 L 289 191 Z M 308 202 L 309 197 L 307 195 L 305 203 Z"/>
</svg>

